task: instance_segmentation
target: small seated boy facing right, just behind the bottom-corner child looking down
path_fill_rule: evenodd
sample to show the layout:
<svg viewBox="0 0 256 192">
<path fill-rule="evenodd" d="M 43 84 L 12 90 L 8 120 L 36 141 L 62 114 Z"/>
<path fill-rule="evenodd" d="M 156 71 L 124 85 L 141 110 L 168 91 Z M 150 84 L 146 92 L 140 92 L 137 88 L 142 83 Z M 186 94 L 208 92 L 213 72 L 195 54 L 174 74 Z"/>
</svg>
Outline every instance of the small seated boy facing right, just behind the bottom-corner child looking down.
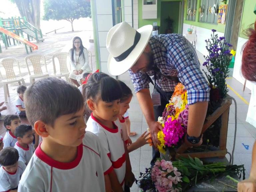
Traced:
<svg viewBox="0 0 256 192">
<path fill-rule="evenodd" d="M 27 165 L 35 150 L 32 144 L 34 138 L 32 126 L 23 124 L 16 127 L 15 136 L 18 141 L 14 148 L 19 152 L 19 161 Z"/>
</svg>

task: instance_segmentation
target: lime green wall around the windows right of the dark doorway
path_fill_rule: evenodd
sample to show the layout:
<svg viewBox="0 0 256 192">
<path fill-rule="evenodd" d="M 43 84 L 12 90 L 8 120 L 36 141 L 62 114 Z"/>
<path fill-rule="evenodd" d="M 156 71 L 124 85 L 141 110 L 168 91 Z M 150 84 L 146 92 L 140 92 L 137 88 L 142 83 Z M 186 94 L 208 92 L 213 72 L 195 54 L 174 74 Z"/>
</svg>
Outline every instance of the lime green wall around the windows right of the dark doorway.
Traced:
<svg viewBox="0 0 256 192">
<path fill-rule="evenodd" d="M 249 0 L 250 1 L 250 0 Z M 194 25 L 206 29 L 216 29 L 219 32 L 224 33 L 225 31 L 225 25 L 223 24 L 210 24 L 210 23 L 202 23 L 198 22 L 199 21 L 199 8 L 200 8 L 201 1 L 197 0 L 197 6 L 196 6 L 196 21 L 187 21 L 186 20 L 186 14 L 187 14 L 187 0 L 185 0 L 185 10 L 184 10 L 184 23 L 189 24 L 189 25 Z M 228 1 L 227 1 L 228 4 Z"/>
</svg>

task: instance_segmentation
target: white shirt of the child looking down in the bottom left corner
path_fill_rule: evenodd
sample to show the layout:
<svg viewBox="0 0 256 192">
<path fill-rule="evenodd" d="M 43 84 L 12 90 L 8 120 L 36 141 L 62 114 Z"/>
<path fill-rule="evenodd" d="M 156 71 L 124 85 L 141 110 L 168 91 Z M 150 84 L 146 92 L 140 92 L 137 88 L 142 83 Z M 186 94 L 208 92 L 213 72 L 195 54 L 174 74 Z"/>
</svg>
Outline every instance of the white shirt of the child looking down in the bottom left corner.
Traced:
<svg viewBox="0 0 256 192">
<path fill-rule="evenodd" d="M 10 191 L 17 188 L 25 168 L 26 165 L 22 161 L 18 161 L 18 169 L 15 173 L 10 173 L 4 167 L 0 167 L 0 191 Z"/>
</svg>

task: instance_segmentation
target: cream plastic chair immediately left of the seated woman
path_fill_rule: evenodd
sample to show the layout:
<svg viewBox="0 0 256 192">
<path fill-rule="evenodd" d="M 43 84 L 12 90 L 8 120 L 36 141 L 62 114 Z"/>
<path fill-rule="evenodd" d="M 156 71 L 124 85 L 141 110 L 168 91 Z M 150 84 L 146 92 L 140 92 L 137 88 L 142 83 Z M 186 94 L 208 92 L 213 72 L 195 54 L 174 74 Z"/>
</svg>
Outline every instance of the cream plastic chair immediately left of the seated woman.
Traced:
<svg viewBox="0 0 256 192">
<path fill-rule="evenodd" d="M 53 72 L 54 74 L 51 74 L 50 76 L 54 76 L 54 77 L 65 77 L 67 82 L 69 81 L 69 72 L 68 72 L 68 67 L 67 67 L 67 56 L 69 54 L 67 52 L 60 52 L 60 53 L 55 53 L 52 56 L 52 64 L 53 64 Z M 54 59 L 57 58 L 59 61 L 59 68 L 60 71 L 57 73 L 56 72 L 56 65 L 55 65 L 55 61 Z"/>
</svg>

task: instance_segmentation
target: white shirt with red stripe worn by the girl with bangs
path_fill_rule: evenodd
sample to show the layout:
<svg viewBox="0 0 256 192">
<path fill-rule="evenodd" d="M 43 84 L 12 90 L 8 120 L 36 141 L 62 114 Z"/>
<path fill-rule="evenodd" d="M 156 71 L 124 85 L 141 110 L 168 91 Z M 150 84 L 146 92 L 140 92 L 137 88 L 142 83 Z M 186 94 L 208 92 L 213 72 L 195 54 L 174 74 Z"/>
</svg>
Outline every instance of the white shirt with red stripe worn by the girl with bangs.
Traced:
<svg viewBox="0 0 256 192">
<path fill-rule="evenodd" d="M 115 129 L 106 127 L 91 114 L 86 123 L 86 130 L 99 136 L 100 141 L 112 162 L 118 181 L 124 188 L 124 176 L 126 170 L 124 142 L 121 136 L 120 124 L 118 122 L 117 125 L 114 122 L 113 124 L 116 127 Z"/>
</svg>

